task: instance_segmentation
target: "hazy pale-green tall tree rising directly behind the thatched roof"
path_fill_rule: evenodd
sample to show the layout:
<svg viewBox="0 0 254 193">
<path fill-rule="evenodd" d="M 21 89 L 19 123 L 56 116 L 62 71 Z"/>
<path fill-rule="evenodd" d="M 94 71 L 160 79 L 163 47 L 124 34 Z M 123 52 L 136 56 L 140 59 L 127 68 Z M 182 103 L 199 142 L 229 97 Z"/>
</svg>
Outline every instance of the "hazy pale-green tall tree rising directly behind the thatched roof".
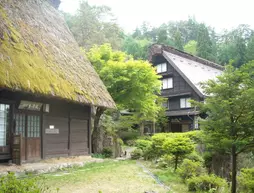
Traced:
<svg viewBox="0 0 254 193">
<path fill-rule="evenodd" d="M 81 1 L 75 15 L 64 13 L 64 16 L 80 46 L 89 49 L 94 44 L 111 43 L 115 49 L 121 47 L 123 32 L 109 7 L 91 6 L 86 1 Z"/>
</svg>

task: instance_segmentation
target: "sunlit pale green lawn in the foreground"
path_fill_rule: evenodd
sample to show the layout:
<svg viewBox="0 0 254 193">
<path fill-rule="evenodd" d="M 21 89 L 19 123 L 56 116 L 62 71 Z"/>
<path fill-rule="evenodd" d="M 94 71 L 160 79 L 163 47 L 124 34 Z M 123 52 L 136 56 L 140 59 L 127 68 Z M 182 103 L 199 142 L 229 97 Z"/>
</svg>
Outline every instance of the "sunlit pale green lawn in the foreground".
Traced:
<svg viewBox="0 0 254 193">
<path fill-rule="evenodd" d="M 166 193 L 135 161 L 105 161 L 45 174 L 44 183 L 60 193 Z"/>
</svg>

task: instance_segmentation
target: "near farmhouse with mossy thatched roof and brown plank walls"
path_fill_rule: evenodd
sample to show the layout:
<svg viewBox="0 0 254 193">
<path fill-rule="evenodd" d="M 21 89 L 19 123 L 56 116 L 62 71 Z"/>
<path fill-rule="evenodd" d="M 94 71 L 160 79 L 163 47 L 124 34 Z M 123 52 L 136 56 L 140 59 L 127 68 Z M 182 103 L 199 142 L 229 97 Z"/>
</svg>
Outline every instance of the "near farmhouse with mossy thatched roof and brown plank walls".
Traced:
<svg viewBox="0 0 254 193">
<path fill-rule="evenodd" d="M 89 154 L 92 106 L 115 103 L 59 12 L 1 0 L 0 161 Z"/>
</svg>

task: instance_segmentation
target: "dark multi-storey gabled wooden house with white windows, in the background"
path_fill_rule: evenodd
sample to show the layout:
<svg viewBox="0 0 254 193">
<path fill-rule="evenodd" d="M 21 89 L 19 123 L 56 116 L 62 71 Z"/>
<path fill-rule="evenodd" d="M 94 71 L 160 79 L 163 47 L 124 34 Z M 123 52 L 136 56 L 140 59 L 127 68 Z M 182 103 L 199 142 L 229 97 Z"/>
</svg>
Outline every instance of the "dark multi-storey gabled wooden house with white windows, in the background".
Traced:
<svg viewBox="0 0 254 193">
<path fill-rule="evenodd" d="M 161 75 L 161 95 L 166 98 L 169 132 L 198 129 L 199 111 L 189 100 L 204 101 L 201 82 L 214 79 L 223 67 L 170 46 L 154 44 L 149 50 L 149 61 Z"/>
</svg>

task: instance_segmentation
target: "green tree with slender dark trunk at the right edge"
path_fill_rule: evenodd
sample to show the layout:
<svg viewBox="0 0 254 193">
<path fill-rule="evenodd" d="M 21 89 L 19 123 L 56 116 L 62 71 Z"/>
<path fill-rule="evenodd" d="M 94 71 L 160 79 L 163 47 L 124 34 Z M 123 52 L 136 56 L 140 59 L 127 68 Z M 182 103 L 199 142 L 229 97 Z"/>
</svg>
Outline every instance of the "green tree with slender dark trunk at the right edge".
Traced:
<svg viewBox="0 0 254 193">
<path fill-rule="evenodd" d="M 206 145 L 232 157 L 232 193 L 236 193 L 237 156 L 254 147 L 254 62 L 227 66 L 218 80 L 203 84 L 206 103 L 197 103 L 208 118 L 202 123 Z"/>
</svg>

